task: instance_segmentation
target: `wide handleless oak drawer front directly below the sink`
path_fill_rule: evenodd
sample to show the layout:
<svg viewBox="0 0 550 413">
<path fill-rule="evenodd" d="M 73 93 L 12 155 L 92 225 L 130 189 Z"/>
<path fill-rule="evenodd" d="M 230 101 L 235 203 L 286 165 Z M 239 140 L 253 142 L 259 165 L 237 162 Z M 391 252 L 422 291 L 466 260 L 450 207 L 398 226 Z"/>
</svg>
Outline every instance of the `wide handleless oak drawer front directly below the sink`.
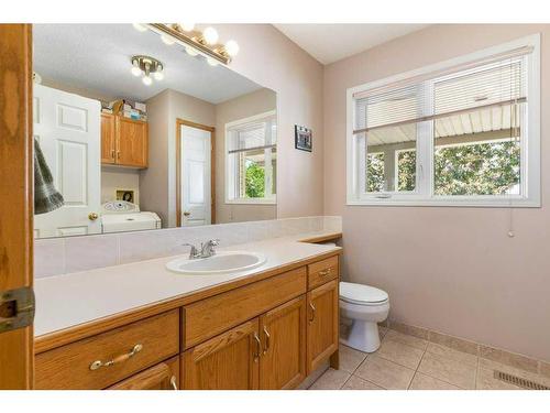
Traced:
<svg viewBox="0 0 550 413">
<path fill-rule="evenodd" d="M 189 348 L 306 293 L 306 268 L 285 272 L 184 307 Z"/>
</svg>

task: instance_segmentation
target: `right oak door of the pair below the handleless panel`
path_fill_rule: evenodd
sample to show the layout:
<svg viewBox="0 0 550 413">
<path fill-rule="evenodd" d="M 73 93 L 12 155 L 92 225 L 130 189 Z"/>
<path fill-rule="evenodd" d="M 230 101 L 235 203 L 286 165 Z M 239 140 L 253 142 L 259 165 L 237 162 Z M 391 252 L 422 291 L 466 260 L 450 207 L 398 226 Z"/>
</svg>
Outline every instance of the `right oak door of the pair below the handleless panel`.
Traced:
<svg viewBox="0 0 550 413">
<path fill-rule="evenodd" d="M 294 389 L 306 378 L 306 295 L 260 318 L 260 389 Z"/>
</svg>

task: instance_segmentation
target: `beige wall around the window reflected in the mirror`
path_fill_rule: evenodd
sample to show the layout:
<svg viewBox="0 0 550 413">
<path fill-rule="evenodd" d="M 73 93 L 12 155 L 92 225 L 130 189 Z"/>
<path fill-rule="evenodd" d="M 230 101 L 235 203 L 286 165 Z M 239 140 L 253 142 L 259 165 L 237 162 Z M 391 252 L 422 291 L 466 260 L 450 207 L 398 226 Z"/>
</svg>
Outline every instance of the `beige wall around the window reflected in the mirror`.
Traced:
<svg viewBox="0 0 550 413">
<path fill-rule="evenodd" d="M 276 205 L 226 204 L 226 123 L 276 110 L 276 94 L 266 88 L 216 105 L 217 224 L 277 218 Z"/>
</svg>

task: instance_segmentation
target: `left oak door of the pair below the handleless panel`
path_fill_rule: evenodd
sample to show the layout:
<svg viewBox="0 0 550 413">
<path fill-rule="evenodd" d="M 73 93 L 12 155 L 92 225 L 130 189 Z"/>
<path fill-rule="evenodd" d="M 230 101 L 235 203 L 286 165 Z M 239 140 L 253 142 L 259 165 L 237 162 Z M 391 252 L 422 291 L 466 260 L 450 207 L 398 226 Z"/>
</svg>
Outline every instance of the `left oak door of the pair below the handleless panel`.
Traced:
<svg viewBox="0 0 550 413">
<path fill-rule="evenodd" d="M 257 318 L 220 334 L 184 352 L 184 389 L 257 389 L 261 350 Z"/>
</svg>

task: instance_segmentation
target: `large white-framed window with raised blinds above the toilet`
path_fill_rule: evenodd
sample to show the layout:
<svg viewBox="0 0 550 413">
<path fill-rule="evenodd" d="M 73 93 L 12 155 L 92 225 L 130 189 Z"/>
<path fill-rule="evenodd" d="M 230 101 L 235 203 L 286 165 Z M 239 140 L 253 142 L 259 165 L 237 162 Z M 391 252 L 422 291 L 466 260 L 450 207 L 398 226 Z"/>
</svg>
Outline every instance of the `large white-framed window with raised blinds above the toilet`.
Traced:
<svg viewBox="0 0 550 413">
<path fill-rule="evenodd" d="M 539 43 L 349 89 L 348 203 L 540 206 Z"/>
</svg>

